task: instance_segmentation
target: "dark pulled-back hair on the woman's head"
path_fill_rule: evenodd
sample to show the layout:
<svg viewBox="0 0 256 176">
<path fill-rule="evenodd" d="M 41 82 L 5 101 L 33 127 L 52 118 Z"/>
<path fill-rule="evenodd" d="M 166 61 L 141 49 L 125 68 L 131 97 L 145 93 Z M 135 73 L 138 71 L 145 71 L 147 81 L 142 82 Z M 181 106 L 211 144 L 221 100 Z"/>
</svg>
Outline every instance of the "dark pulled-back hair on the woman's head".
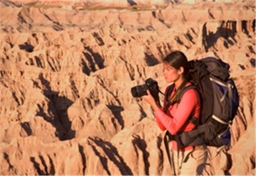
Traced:
<svg viewBox="0 0 256 176">
<path fill-rule="evenodd" d="M 188 72 L 187 57 L 181 51 L 171 52 L 169 55 L 164 57 L 163 62 L 168 63 L 170 66 L 174 67 L 175 69 L 179 69 L 180 67 L 183 67 L 184 75 L 186 75 Z"/>
</svg>

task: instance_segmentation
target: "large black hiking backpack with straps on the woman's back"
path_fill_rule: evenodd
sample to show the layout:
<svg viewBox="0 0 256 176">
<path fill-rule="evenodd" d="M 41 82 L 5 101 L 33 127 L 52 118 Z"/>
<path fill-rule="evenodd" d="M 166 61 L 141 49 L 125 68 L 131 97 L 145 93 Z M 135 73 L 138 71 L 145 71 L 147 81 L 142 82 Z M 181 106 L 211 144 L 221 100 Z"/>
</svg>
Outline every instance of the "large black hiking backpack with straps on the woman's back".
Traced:
<svg viewBox="0 0 256 176">
<path fill-rule="evenodd" d="M 196 89 L 201 97 L 200 121 L 195 123 L 196 120 L 191 116 L 190 122 L 196 125 L 194 130 L 175 136 L 167 134 L 177 141 L 178 148 L 202 144 L 221 147 L 230 144 L 230 126 L 239 104 L 237 87 L 229 74 L 230 66 L 221 59 L 207 57 L 189 61 L 188 68 L 187 80 L 193 85 L 181 90 L 177 103 L 188 89 Z M 173 87 L 171 85 L 167 88 L 167 98 Z"/>
</svg>

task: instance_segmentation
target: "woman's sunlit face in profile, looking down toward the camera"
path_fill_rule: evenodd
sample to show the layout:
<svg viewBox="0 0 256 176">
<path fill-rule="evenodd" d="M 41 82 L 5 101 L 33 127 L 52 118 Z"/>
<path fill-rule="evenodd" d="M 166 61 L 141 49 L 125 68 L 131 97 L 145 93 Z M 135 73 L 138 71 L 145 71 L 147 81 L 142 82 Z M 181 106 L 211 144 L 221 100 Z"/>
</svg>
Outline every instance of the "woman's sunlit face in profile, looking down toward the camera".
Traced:
<svg viewBox="0 0 256 176">
<path fill-rule="evenodd" d="M 176 82 L 181 76 L 181 70 L 170 66 L 168 63 L 163 63 L 163 75 L 167 83 Z"/>
</svg>

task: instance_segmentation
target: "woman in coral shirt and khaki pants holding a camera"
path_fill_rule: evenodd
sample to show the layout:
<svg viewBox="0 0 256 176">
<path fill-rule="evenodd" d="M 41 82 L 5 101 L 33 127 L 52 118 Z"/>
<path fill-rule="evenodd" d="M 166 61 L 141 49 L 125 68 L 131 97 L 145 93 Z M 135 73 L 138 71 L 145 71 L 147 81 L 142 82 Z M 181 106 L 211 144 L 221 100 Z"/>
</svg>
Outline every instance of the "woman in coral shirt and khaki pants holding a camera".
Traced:
<svg viewBox="0 0 256 176">
<path fill-rule="evenodd" d="M 190 117 L 197 121 L 200 117 L 200 97 L 195 89 L 187 90 L 176 103 L 175 97 L 183 87 L 191 85 L 186 79 L 188 72 L 187 57 L 183 52 L 174 51 L 163 60 L 163 75 L 167 83 L 174 83 L 174 89 L 170 93 L 173 102 L 164 111 L 151 96 L 149 90 L 142 98 L 150 104 L 154 110 L 156 121 L 161 130 L 167 130 L 172 136 L 183 131 L 191 131 L 195 124 L 190 122 Z M 167 93 L 167 89 L 166 89 Z M 164 106 L 167 102 L 164 101 Z M 172 155 L 174 175 L 201 175 L 207 160 L 207 149 L 204 145 L 187 146 L 178 150 L 177 141 L 172 140 Z M 186 159 L 185 159 L 186 158 Z"/>
</svg>

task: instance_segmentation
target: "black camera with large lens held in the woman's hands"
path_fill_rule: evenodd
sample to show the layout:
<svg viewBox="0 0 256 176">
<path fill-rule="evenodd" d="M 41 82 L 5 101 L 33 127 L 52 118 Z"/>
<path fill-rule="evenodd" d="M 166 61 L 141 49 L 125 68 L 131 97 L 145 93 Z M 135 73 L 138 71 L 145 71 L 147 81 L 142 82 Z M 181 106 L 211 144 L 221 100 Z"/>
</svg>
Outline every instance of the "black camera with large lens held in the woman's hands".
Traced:
<svg viewBox="0 0 256 176">
<path fill-rule="evenodd" d="M 132 87 L 132 95 L 133 97 L 142 97 L 147 94 L 147 90 L 150 91 L 151 95 L 154 97 L 156 101 L 159 100 L 159 86 L 156 80 L 151 78 L 145 81 L 145 84 Z"/>
</svg>

